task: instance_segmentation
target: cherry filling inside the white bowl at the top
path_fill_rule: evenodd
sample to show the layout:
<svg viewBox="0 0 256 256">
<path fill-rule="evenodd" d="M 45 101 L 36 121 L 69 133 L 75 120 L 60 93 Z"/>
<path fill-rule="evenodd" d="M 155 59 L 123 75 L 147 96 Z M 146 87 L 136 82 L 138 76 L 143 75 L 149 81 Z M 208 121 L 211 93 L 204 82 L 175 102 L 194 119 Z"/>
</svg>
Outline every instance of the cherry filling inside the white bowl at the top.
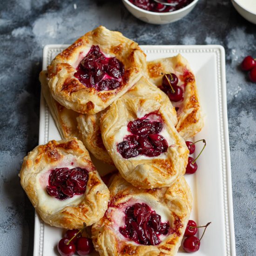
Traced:
<svg viewBox="0 0 256 256">
<path fill-rule="evenodd" d="M 171 3 L 171 6 L 156 3 L 153 0 L 129 0 L 135 6 L 156 13 L 168 13 L 179 10 L 189 5 L 193 0 L 165 0 L 166 3 Z"/>
</svg>

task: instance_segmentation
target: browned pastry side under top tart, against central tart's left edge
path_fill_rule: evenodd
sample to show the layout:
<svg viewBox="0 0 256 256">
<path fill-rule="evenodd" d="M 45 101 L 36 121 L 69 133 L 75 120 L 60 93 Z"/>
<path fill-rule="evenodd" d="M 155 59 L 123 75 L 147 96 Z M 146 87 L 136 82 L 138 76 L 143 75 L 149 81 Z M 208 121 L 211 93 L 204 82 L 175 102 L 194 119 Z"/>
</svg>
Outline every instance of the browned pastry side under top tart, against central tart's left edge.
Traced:
<svg viewBox="0 0 256 256">
<path fill-rule="evenodd" d="M 85 147 L 97 159 L 114 164 L 101 138 L 100 118 L 103 112 L 104 110 L 94 115 L 80 114 L 77 117 L 78 129 Z"/>
</svg>

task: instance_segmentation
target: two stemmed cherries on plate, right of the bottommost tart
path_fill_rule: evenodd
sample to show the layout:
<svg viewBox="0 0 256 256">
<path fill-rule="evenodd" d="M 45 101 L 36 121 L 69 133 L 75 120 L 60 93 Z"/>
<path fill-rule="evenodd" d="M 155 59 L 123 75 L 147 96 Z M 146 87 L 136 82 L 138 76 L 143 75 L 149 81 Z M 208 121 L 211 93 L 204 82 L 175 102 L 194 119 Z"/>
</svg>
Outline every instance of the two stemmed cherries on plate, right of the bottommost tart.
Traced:
<svg viewBox="0 0 256 256">
<path fill-rule="evenodd" d="M 196 252 L 199 250 L 200 248 L 200 241 L 204 235 L 204 232 L 206 230 L 206 228 L 209 226 L 211 222 L 208 222 L 205 226 L 197 226 L 197 224 L 195 223 L 195 221 L 193 220 L 189 220 L 187 228 L 185 230 L 184 236 L 187 236 L 187 238 L 184 239 L 183 241 L 183 249 L 186 252 Z M 197 233 L 197 229 L 198 228 L 204 228 L 204 231 L 202 233 L 202 236 L 200 239 L 198 239 L 195 234 Z"/>
</svg>

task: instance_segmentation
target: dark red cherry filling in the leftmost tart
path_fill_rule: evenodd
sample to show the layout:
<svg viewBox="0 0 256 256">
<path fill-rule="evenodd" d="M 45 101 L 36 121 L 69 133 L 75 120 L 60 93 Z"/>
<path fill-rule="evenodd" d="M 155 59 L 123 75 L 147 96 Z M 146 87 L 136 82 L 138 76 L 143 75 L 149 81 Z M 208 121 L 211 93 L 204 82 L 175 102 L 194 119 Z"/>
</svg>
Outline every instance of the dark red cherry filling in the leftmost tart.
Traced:
<svg viewBox="0 0 256 256">
<path fill-rule="evenodd" d="M 56 168 L 49 175 L 49 186 L 46 186 L 48 195 L 65 200 L 74 195 L 84 194 L 88 182 L 88 171 L 76 167 Z"/>
</svg>

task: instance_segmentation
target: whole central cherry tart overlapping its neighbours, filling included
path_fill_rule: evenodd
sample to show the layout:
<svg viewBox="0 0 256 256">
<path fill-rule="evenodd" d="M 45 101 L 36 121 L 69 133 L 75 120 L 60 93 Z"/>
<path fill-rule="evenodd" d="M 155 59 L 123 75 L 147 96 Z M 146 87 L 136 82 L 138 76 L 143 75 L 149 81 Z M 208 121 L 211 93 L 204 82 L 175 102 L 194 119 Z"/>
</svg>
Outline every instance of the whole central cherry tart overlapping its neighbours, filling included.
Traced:
<svg viewBox="0 0 256 256">
<path fill-rule="evenodd" d="M 173 106 L 142 78 L 101 117 L 101 136 L 122 177 L 138 188 L 170 186 L 185 173 L 189 151 L 174 127 Z"/>
</svg>

